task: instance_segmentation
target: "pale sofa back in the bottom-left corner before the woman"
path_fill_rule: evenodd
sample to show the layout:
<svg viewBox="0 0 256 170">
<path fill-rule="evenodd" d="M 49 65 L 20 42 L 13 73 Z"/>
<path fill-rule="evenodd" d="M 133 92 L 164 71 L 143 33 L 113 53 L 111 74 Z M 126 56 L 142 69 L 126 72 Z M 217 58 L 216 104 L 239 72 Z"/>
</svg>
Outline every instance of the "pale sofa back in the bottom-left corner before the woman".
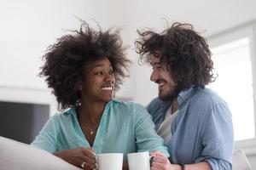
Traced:
<svg viewBox="0 0 256 170">
<path fill-rule="evenodd" d="M 0 136 L 0 169 L 80 170 L 45 150 Z"/>
</svg>

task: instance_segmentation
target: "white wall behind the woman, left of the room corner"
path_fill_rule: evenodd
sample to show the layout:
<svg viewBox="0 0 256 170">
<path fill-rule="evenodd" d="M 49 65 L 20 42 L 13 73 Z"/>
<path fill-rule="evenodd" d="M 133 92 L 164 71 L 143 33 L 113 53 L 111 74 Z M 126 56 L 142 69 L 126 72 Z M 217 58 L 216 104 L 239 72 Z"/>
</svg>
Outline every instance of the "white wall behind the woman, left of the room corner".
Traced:
<svg viewBox="0 0 256 170">
<path fill-rule="evenodd" d="M 38 77 L 46 48 L 67 29 L 79 29 L 76 17 L 102 28 L 124 25 L 124 6 L 118 0 L 0 1 L 0 100 L 49 104 L 54 113 L 55 97 Z"/>
</svg>

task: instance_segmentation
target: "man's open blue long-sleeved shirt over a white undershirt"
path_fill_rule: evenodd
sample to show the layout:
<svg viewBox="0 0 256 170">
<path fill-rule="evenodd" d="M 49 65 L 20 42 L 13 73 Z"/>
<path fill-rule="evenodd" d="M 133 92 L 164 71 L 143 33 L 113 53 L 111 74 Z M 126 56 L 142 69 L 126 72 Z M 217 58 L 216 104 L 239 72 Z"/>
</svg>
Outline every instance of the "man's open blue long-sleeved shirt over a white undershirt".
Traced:
<svg viewBox="0 0 256 170">
<path fill-rule="evenodd" d="M 232 169 L 233 125 L 227 104 L 212 90 L 189 88 L 178 95 L 179 112 L 167 144 L 172 163 L 207 161 L 213 170 Z M 156 129 L 171 102 L 156 98 L 147 106 Z"/>
</svg>

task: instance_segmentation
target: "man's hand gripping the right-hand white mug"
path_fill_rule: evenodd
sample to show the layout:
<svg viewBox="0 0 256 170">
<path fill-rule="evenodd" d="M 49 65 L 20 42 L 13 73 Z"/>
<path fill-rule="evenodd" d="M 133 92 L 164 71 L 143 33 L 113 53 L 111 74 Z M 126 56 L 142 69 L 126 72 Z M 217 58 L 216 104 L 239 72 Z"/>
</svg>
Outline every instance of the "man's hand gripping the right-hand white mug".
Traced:
<svg viewBox="0 0 256 170">
<path fill-rule="evenodd" d="M 179 165 L 172 164 L 168 158 L 159 151 L 154 151 L 150 155 L 154 156 L 150 170 L 181 170 Z"/>
</svg>

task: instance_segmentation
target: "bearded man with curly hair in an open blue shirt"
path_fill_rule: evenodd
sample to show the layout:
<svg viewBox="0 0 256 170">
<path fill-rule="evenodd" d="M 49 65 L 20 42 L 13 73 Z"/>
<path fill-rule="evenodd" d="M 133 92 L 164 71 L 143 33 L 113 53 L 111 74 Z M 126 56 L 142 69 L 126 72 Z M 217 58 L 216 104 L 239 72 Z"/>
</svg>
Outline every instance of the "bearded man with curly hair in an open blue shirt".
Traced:
<svg viewBox="0 0 256 170">
<path fill-rule="evenodd" d="M 205 86 L 214 82 L 207 41 L 189 24 L 161 33 L 138 31 L 140 61 L 153 67 L 159 96 L 147 106 L 169 160 L 157 153 L 151 170 L 232 169 L 233 126 L 228 105 Z"/>
</svg>

